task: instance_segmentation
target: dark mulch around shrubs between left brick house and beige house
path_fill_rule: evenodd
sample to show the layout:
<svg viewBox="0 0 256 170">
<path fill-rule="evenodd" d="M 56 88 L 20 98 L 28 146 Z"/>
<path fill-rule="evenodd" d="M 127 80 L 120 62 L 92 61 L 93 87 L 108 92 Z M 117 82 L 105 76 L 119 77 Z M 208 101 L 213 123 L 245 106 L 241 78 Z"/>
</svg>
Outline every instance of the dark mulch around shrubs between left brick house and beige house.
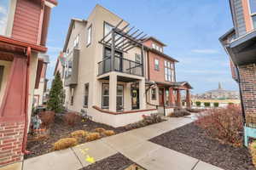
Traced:
<svg viewBox="0 0 256 170">
<path fill-rule="evenodd" d="M 32 153 L 25 156 L 25 159 L 40 156 L 52 151 L 52 147 L 57 140 L 61 138 L 69 137 L 70 133 L 76 130 L 85 130 L 88 132 L 93 131 L 96 127 L 103 127 L 106 130 L 113 130 L 115 133 L 123 133 L 125 132 L 125 127 L 114 128 L 110 127 L 106 124 L 93 122 L 90 120 L 86 120 L 85 122 L 79 122 L 75 124 L 74 127 L 68 126 L 65 122 L 63 122 L 63 118 L 61 115 L 55 116 L 55 123 L 51 125 L 49 128 L 49 138 L 41 139 L 38 141 L 30 141 L 32 138 L 31 135 L 28 135 L 28 141 L 26 145 L 26 150 L 31 151 Z M 86 142 L 85 139 L 80 141 L 80 143 Z"/>
</svg>

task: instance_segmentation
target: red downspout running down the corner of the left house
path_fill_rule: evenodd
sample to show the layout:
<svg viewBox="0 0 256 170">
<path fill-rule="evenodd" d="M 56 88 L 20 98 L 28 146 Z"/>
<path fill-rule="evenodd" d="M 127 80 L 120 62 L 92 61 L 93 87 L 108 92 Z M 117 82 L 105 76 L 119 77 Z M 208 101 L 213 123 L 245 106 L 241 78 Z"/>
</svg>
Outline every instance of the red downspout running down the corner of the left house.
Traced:
<svg viewBox="0 0 256 170">
<path fill-rule="evenodd" d="M 26 61 L 25 125 L 24 125 L 23 143 L 22 143 L 22 152 L 25 155 L 30 153 L 29 151 L 26 150 L 27 127 L 29 126 L 27 111 L 28 111 L 28 91 L 29 91 L 29 66 L 30 66 L 30 59 L 31 59 L 30 47 L 26 49 L 26 56 L 27 56 L 27 61 Z"/>
</svg>

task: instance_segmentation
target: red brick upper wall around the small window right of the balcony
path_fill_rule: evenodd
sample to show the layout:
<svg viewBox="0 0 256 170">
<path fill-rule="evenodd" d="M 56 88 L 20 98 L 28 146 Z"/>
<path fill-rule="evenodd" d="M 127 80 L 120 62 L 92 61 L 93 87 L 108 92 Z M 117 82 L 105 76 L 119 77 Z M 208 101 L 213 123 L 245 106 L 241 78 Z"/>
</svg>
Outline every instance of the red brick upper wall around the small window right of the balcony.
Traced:
<svg viewBox="0 0 256 170">
<path fill-rule="evenodd" d="M 154 59 L 159 60 L 160 70 L 154 70 Z M 148 71 L 149 71 L 149 80 L 154 82 L 166 82 L 165 80 L 165 60 L 169 60 L 172 62 L 171 59 L 166 59 L 161 57 L 158 54 L 154 54 L 152 52 L 148 52 Z"/>
</svg>

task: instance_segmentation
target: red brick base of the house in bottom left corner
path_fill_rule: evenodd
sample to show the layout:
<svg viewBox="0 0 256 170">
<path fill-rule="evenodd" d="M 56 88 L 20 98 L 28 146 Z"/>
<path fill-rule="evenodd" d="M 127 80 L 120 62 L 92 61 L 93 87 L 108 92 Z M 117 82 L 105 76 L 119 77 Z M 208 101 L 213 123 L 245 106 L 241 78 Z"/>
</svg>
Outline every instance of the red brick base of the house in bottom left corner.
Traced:
<svg viewBox="0 0 256 170">
<path fill-rule="evenodd" d="M 0 122 L 0 167 L 22 160 L 24 122 Z"/>
</svg>

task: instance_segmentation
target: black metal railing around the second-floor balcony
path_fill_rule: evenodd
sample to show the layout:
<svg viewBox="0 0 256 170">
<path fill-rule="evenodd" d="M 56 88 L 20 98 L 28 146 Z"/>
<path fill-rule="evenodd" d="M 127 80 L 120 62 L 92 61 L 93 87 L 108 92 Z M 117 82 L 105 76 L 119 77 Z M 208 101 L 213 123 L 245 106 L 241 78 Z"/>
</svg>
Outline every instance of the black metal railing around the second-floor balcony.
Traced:
<svg viewBox="0 0 256 170">
<path fill-rule="evenodd" d="M 143 77 L 143 64 L 137 63 L 130 59 L 114 57 L 114 71 Z M 98 74 L 102 75 L 111 71 L 111 57 L 103 59 L 98 63 Z"/>
</svg>

